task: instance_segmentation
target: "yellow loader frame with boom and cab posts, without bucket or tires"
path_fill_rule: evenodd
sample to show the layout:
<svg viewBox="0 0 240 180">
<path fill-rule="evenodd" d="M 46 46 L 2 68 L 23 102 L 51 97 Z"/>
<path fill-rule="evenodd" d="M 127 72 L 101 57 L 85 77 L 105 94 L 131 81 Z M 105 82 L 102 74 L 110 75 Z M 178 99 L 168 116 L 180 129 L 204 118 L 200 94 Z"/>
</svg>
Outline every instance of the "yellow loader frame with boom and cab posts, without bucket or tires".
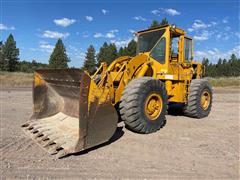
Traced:
<svg viewBox="0 0 240 180">
<path fill-rule="evenodd" d="M 161 38 L 166 39 L 165 61 L 159 63 L 151 57 L 151 52 L 139 53 L 135 57 L 124 56 L 116 59 L 108 68 L 102 63 L 93 78 L 101 74 L 101 79 L 105 81 L 99 83 L 99 87 L 105 87 L 104 82 L 111 84 L 109 86 L 112 104 L 116 105 L 120 99 L 125 86 L 134 78 L 150 76 L 165 82 L 169 102 L 185 103 L 188 97 L 188 87 L 192 79 L 199 79 L 202 75 L 201 63 L 187 60 L 185 58 L 184 47 L 185 39 L 192 41 L 185 36 L 185 32 L 171 26 L 140 31 L 137 36 L 145 33 L 157 32 L 164 29 L 165 32 Z M 177 56 L 171 56 L 171 36 L 179 38 Z M 193 48 L 189 47 L 191 58 L 193 57 Z M 107 75 L 107 76 L 106 76 Z"/>
</svg>

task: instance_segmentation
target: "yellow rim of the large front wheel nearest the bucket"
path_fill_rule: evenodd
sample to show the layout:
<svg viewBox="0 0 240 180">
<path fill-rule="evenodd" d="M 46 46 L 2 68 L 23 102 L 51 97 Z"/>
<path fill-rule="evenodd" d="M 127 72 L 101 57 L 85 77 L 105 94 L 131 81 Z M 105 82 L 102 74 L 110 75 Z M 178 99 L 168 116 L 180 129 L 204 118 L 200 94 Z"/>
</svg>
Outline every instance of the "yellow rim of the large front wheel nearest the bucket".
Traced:
<svg viewBox="0 0 240 180">
<path fill-rule="evenodd" d="M 162 98 L 157 93 L 152 93 L 148 96 L 145 102 L 144 110 L 147 117 L 154 121 L 162 112 Z"/>
</svg>

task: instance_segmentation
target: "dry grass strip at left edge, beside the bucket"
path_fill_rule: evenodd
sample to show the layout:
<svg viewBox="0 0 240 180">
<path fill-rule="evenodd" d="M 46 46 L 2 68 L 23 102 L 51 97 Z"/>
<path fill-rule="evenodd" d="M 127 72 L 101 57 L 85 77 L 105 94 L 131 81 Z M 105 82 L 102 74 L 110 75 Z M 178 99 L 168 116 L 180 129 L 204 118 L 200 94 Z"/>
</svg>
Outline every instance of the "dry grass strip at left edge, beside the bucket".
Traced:
<svg viewBox="0 0 240 180">
<path fill-rule="evenodd" d="M 22 72 L 0 71 L 0 86 L 4 87 L 32 87 L 33 74 Z"/>
</svg>

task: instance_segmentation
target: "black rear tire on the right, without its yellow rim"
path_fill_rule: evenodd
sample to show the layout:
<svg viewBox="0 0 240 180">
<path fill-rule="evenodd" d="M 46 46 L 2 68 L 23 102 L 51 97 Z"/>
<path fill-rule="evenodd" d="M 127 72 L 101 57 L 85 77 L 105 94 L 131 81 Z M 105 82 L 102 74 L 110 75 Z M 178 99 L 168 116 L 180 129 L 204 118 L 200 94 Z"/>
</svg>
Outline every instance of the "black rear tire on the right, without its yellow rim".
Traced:
<svg viewBox="0 0 240 180">
<path fill-rule="evenodd" d="M 201 96 L 204 92 L 208 92 L 210 96 L 210 102 L 207 107 L 203 107 L 201 104 Z M 188 102 L 185 105 L 183 111 L 186 116 L 193 118 L 207 117 L 212 107 L 212 87 L 205 79 L 194 79 L 190 84 Z"/>
</svg>

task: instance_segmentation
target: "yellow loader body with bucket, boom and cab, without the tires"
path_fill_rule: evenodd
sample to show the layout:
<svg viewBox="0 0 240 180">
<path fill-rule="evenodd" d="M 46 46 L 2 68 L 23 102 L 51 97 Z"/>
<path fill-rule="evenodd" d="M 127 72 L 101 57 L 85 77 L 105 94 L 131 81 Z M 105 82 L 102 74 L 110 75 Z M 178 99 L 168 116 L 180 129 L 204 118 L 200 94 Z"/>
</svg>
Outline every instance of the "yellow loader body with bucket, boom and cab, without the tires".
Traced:
<svg viewBox="0 0 240 180">
<path fill-rule="evenodd" d="M 159 38 L 154 39 L 159 33 Z M 106 142 L 117 127 L 115 107 L 123 90 L 132 79 L 144 76 L 165 83 L 169 102 L 187 102 L 191 80 L 201 78 L 202 74 L 201 64 L 192 60 L 191 38 L 170 25 L 136 35 L 140 41 L 135 57 L 119 57 L 108 67 L 102 63 L 92 77 L 79 69 L 37 70 L 33 115 L 22 126 L 24 131 L 59 157 Z M 141 44 L 145 35 L 154 35 L 152 47 L 141 51 L 144 43 L 149 43 L 143 38 Z M 174 38 L 178 39 L 177 52 L 173 52 Z"/>
</svg>

